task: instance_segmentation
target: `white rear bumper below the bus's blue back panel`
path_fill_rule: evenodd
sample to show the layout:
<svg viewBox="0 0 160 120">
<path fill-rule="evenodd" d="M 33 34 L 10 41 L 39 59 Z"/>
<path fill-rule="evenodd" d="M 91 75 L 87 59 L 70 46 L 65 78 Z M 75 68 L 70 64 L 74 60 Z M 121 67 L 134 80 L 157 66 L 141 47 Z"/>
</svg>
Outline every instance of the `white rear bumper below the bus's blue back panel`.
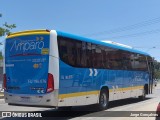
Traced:
<svg viewBox="0 0 160 120">
<path fill-rule="evenodd" d="M 58 90 L 51 93 L 30 95 L 30 94 L 13 94 L 4 92 L 5 102 L 8 104 L 18 104 L 26 106 L 58 106 Z"/>
</svg>

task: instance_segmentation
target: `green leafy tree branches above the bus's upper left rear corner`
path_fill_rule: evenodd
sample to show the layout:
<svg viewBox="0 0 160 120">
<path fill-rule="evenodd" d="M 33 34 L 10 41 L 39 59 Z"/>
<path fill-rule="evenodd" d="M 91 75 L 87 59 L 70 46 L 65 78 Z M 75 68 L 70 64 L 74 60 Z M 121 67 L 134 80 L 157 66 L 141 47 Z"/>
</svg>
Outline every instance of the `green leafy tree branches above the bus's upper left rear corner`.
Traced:
<svg viewBox="0 0 160 120">
<path fill-rule="evenodd" d="M 1 13 L 0 13 L 0 17 L 2 17 Z M 2 25 L 2 27 L 0 27 L 0 37 L 11 33 L 10 30 L 13 29 L 13 28 L 16 28 L 15 24 L 10 24 L 9 25 L 7 22 L 5 22 Z"/>
</svg>

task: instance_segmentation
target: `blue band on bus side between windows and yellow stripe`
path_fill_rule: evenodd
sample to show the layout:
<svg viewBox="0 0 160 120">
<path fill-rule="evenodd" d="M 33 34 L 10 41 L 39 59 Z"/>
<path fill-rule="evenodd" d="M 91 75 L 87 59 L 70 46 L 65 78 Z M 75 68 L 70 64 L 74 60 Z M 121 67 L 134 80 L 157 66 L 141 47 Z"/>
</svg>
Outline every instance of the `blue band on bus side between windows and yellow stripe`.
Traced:
<svg viewBox="0 0 160 120">
<path fill-rule="evenodd" d="M 59 94 L 96 91 L 102 86 L 108 86 L 109 89 L 113 89 L 113 86 L 118 88 L 144 86 L 149 80 L 148 72 L 144 71 L 75 68 L 61 60 L 59 64 Z"/>
</svg>

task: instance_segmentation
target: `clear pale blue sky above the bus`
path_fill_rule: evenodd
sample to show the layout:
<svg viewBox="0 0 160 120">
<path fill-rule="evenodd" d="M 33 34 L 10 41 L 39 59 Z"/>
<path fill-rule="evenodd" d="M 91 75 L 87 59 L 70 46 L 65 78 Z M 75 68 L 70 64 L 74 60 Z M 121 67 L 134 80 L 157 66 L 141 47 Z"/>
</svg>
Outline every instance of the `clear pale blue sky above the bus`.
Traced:
<svg viewBox="0 0 160 120">
<path fill-rule="evenodd" d="M 160 61 L 159 6 L 160 0 L 0 0 L 0 26 L 7 22 L 17 26 L 11 32 L 55 29 L 110 40 Z"/>
</svg>

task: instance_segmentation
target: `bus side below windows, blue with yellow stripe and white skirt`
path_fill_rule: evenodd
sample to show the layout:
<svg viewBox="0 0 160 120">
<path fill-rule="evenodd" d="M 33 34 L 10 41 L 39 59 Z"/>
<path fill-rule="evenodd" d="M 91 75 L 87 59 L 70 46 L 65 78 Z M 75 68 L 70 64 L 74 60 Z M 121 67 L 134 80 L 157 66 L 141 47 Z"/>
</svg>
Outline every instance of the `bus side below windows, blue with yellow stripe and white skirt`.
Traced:
<svg viewBox="0 0 160 120">
<path fill-rule="evenodd" d="M 102 87 L 109 88 L 109 101 L 138 97 L 148 79 L 143 71 L 74 68 L 60 61 L 59 106 L 98 103 Z"/>
</svg>

